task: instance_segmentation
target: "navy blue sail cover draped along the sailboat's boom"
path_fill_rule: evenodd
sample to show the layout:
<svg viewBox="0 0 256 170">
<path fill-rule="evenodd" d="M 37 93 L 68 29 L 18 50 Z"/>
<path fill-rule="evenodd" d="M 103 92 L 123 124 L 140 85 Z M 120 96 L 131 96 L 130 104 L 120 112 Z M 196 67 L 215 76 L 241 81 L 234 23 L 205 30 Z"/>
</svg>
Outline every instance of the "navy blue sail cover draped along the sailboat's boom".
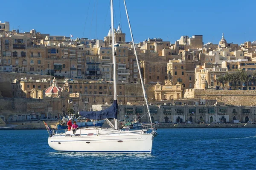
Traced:
<svg viewBox="0 0 256 170">
<path fill-rule="evenodd" d="M 79 111 L 78 114 L 84 116 L 87 119 L 110 119 L 115 118 L 117 119 L 117 100 L 114 100 L 111 107 L 103 110 L 103 111 Z"/>
</svg>

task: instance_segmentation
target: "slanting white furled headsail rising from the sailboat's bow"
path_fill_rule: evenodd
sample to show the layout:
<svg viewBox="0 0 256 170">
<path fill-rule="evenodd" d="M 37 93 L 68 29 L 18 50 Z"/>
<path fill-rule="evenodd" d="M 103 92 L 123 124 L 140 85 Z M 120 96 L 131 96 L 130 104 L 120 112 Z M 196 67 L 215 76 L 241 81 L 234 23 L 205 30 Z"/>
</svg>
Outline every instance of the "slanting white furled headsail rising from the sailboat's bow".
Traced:
<svg viewBox="0 0 256 170">
<path fill-rule="evenodd" d="M 125 0 L 124 0 L 124 4 L 125 4 L 126 16 L 127 16 L 127 20 L 128 20 L 128 24 L 129 24 L 129 28 L 130 28 L 130 32 L 131 32 L 132 45 L 133 45 L 133 47 L 134 47 L 134 53 L 135 53 L 137 65 L 138 65 L 138 67 L 139 67 L 139 66 L 140 66 L 140 65 L 139 65 L 139 60 L 138 60 L 136 48 L 135 48 L 135 45 L 134 45 L 134 38 L 133 38 L 132 31 L 131 31 L 131 23 L 130 23 L 130 20 L 129 20 L 129 16 L 128 16 L 128 11 L 127 11 L 127 8 L 126 8 Z M 145 99 L 145 102 L 146 102 L 146 106 L 147 106 L 147 109 L 148 109 L 148 116 L 149 116 L 150 122 L 152 123 L 151 115 L 150 115 L 150 111 L 149 111 L 149 106 L 148 106 L 147 94 L 146 94 L 146 92 L 145 92 L 145 87 L 144 87 L 144 84 L 143 84 L 143 79 L 142 79 L 140 67 L 139 67 L 138 71 L 139 71 L 139 74 L 140 74 L 140 82 L 141 82 L 141 86 L 142 86 L 143 96 L 144 96 L 144 99 Z"/>
</svg>

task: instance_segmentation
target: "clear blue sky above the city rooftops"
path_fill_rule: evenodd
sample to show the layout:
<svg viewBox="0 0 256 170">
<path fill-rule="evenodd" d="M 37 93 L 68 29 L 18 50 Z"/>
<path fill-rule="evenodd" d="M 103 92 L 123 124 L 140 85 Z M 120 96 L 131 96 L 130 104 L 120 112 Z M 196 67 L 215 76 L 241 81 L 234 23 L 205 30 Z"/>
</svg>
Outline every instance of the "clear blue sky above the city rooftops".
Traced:
<svg viewBox="0 0 256 170">
<path fill-rule="evenodd" d="M 115 27 L 120 22 L 129 41 L 123 0 L 113 2 Z M 135 42 L 156 37 L 174 43 L 182 35 L 203 35 L 204 43 L 218 43 L 222 32 L 227 42 L 256 40 L 254 0 L 126 0 L 126 4 Z M 3 1 L 0 20 L 9 21 L 10 29 L 34 28 L 41 33 L 89 39 L 103 39 L 111 24 L 109 0 Z"/>
</svg>

